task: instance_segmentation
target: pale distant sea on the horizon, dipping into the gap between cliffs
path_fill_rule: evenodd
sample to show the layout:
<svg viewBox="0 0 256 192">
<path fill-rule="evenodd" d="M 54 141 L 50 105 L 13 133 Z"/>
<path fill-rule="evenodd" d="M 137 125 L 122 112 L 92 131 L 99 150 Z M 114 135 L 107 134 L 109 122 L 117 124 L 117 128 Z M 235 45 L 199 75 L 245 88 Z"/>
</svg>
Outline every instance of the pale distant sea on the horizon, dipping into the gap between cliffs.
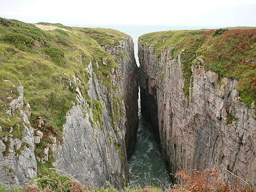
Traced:
<svg viewBox="0 0 256 192">
<path fill-rule="evenodd" d="M 148 34 L 151 32 L 163 31 L 163 30 L 192 30 L 192 29 L 219 29 L 221 27 L 211 27 L 211 26 L 147 26 L 147 25 L 107 25 L 107 24 L 79 24 L 79 25 L 68 25 L 71 27 L 101 27 L 107 29 L 116 29 L 121 32 L 124 32 L 133 39 L 134 43 L 134 52 L 135 52 L 135 59 L 137 65 L 139 66 L 138 62 L 138 37 L 143 34 Z"/>
</svg>

